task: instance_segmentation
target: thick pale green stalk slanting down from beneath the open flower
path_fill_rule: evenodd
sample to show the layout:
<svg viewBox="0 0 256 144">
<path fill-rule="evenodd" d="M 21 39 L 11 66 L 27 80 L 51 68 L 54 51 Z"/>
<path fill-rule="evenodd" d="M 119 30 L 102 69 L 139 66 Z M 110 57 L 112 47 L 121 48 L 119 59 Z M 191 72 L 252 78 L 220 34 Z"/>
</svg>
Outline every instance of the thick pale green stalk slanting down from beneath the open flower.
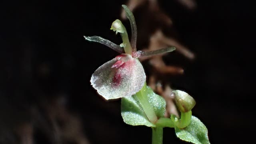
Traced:
<svg viewBox="0 0 256 144">
<path fill-rule="evenodd" d="M 147 85 L 145 82 L 145 84 L 141 88 L 141 90 L 136 93 L 136 96 L 137 96 L 138 100 L 140 101 L 140 104 L 141 104 L 146 116 L 148 117 L 148 120 L 154 124 L 157 121 L 157 116 L 154 112 L 154 108 L 151 106 L 151 104 L 148 101 L 147 94 L 148 94 Z"/>
</svg>

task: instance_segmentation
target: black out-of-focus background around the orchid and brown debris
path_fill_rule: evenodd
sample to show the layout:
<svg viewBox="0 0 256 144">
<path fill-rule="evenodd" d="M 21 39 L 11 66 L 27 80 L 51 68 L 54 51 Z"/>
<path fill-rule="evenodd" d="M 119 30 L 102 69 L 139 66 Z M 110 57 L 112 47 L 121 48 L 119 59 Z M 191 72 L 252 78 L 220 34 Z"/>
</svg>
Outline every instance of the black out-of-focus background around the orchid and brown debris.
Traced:
<svg viewBox="0 0 256 144">
<path fill-rule="evenodd" d="M 193 114 L 208 128 L 211 143 L 245 143 L 253 136 L 255 58 L 254 5 L 247 1 L 160 0 L 176 38 L 196 58 L 177 52 L 166 64 L 184 74 L 168 77 L 173 88 L 194 97 Z M 110 48 L 84 40 L 101 36 L 116 44 L 110 30 L 127 1 L 2 1 L 0 4 L 0 143 L 151 143 L 151 128 L 122 121 L 120 100 L 106 102 L 90 76 L 114 58 Z M 134 11 L 138 30 L 141 11 Z M 130 30 L 129 22 L 124 21 Z M 151 23 L 152 24 L 152 23 Z M 140 30 L 139 30 L 140 32 Z M 138 46 L 148 35 L 138 34 Z M 140 47 L 138 47 L 140 49 Z M 148 73 L 150 69 L 146 69 Z M 185 143 L 164 128 L 164 144 Z"/>
</svg>

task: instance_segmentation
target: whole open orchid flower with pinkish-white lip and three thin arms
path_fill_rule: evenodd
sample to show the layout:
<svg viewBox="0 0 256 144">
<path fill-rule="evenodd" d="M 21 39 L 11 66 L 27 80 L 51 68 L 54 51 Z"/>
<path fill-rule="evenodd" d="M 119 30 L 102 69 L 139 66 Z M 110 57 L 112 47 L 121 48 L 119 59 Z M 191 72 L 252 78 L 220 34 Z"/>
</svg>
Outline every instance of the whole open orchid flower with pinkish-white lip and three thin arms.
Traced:
<svg viewBox="0 0 256 144">
<path fill-rule="evenodd" d="M 150 52 L 137 51 L 137 27 L 134 16 L 126 5 L 122 5 L 122 7 L 130 20 L 132 30 L 131 41 L 129 41 L 126 28 L 120 20 L 115 20 L 110 28 L 116 34 L 120 33 L 123 41 L 120 45 L 99 36 L 84 36 L 88 41 L 99 42 L 120 53 L 114 59 L 100 66 L 92 74 L 90 80 L 93 88 L 106 100 L 132 96 L 144 86 L 146 74 L 138 58 L 175 50 L 174 47 L 168 47 Z"/>
</svg>

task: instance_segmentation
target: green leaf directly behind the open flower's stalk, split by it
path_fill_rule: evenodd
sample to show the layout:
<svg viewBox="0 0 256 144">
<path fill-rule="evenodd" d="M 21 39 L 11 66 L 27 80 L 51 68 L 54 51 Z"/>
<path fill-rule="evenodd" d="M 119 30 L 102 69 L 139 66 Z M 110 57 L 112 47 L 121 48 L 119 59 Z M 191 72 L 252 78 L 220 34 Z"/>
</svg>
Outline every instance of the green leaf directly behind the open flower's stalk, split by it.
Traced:
<svg viewBox="0 0 256 144">
<path fill-rule="evenodd" d="M 151 106 L 154 108 L 156 116 L 158 116 L 158 118 L 163 117 L 166 106 L 164 98 L 155 94 L 149 86 L 147 86 L 147 97 Z M 121 114 L 126 124 L 155 127 L 155 125 L 148 120 L 136 94 L 122 98 Z"/>
</svg>

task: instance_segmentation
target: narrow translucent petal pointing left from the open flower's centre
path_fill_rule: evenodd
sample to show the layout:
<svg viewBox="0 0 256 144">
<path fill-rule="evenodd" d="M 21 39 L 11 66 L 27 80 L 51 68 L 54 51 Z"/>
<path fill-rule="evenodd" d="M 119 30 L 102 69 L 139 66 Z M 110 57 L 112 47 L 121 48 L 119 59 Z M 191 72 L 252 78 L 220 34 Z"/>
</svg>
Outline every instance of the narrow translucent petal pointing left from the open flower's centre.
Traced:
<svg viewBox="0 0 256 144">
<path fill-rule="evenodd" d="M 124 53 L 124 48 L 100 36 L 84 36 L 84 38 L 92 42 L 98 42 L 100 44 L 104 44 L 105 46 L 112 48 L 113 50 L 115 50 L 116 52 L 119 52 L 120 54 Z"/>
</svg>

